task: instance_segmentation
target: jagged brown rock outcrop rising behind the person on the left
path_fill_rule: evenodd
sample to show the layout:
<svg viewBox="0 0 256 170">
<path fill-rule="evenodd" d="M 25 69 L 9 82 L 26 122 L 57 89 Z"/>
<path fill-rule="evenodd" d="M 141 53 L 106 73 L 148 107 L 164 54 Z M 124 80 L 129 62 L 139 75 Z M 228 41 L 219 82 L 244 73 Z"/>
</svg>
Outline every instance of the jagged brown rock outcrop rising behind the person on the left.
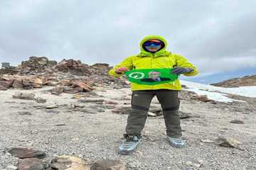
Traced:
<svg viewBox="0 0 256 170">
<path fill-rule="evenodd" d="M 34 89 L 42 86 L 63 87 L 63 92 L 92 91 L 92 86 L 122 88 L 127 84 L 122 79 L 108 75 L 111 67 L 105 63 L 91 66 L 79 60 L 48 60 L 47 57 L 29 57 L 18 67 L 0 69 L 0 90 Z"/>
</svg>

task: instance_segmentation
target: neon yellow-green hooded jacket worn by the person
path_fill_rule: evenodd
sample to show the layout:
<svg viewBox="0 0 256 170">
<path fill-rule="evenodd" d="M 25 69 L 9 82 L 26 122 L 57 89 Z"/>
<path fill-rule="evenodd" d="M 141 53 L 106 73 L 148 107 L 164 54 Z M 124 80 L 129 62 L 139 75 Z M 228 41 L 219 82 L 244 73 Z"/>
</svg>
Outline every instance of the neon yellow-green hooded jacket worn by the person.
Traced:
<svg viewBox="0 0 256 170">
<path fill-rule="evenodd" d="M 146 52 L 142 45 L 149 39 L 157 39 L 164 42 L 164 48 L 158 52 L 151 53 Z M 168 43 L 164 38 L 159 35 L 149 35 L 146 36 L 139 44 L 142 52 L 139 55 L 132 55 L 127 57 L 124 61 L 117 64 L 113 69 L 110 70 L 109 74 L 113 77 L 120 77 L 122 74 L 117 74 L 114 72 L 115 69 L 120 67 L 126 67 L 127 69 L 166 69 L 176 67 L 187 67 L 192 68 L 193 72 L 184 74 L 185 76 L 195 76 L 198 74 L 198 69 L 193 66 L 188 60 L 186 60 L 181 55 L 173 54 L 166 51 Z M 156 85 L 145 85 L 145 84 L 134 84 L 131 83 L 132 91 L 137 90 L 156 90 L 156 89 L 170 89 L 170 90 L 181 90 L 181 83 L 178 79 L 176 81 L 166 84 L 156 84 Z"/>
</svg>

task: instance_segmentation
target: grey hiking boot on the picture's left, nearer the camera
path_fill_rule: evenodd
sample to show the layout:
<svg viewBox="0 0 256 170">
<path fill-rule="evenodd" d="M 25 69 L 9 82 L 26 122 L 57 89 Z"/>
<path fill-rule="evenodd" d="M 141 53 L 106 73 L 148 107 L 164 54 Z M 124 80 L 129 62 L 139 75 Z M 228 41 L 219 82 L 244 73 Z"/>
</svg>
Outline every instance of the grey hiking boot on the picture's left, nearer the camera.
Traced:
<svg viewBox="0 0 256 170">
<path fill-rule="evenodd" d="M 135 152 L 141 137 L 138 135 L 124 135 L 124 138 L 124 142 L 119 147 L 119 154 L 131 154 Z"/>
</svg>

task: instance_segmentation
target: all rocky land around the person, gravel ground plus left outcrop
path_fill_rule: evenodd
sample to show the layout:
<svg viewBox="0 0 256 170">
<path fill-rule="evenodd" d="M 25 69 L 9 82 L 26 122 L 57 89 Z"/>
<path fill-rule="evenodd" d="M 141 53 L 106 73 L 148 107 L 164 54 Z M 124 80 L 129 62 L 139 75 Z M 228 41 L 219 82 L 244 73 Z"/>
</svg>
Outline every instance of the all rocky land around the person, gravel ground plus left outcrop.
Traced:
<svg viewBox="0 0 256 170">
<path fill-rule="evenodd" d="M 0 169 L 256 169 L 256 98 L 214 101 L 186 86 L 179 93 L 186 147 L 167 142 L 154 98 L 137 152 L 118 154 L 131 91 L 110 68 L 31 57 L 2 70 Z"/>
</svg>

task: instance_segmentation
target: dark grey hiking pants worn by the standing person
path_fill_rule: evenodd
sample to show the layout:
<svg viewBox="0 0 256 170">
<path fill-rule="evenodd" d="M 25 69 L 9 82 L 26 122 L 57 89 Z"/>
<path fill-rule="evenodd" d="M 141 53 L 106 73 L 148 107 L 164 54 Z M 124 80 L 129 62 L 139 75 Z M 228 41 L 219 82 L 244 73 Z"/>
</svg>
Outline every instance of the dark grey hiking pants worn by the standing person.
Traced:
<svg viewBox="0 0 256 170">
<path fill-rule="evenodd" d="M 154 96 L 157 97 L 164 113 L 166 135 L 176 138 L 181 137 L 178 91 L 168 89 L 132 92 L 132 111 L 129 113 L 125 129 L 127 135 L 141 135 Z"/>
</svg>

